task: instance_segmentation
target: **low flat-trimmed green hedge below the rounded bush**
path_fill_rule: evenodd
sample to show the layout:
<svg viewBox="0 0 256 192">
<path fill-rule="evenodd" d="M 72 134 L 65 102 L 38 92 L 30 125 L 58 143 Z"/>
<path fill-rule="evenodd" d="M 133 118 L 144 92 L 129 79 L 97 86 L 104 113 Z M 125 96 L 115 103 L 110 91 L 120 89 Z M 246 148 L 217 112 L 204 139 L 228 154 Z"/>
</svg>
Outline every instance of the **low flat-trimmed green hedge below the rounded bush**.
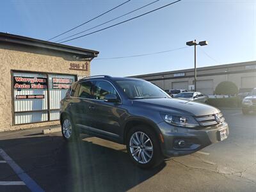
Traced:
<svg viewBox="0 0 256 192">
<path fill-rule="evenodd" d="M 216 108 L 239 108 L 241 99 L 239 97 L 209 98 L 206 103 Z"/>
</svg>

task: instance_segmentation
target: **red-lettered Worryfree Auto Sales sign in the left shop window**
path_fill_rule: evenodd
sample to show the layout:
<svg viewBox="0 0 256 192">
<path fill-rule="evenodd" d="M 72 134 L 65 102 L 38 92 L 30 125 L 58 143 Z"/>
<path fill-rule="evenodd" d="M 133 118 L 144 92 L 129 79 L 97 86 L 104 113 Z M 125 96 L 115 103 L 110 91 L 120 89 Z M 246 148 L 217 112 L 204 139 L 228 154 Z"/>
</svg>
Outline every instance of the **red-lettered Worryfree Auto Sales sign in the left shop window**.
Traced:
<svg viewBox="0 0 256 192">
<path fill-rule="evenodd" d="M 13 77 L 13 88 L 15 89 L 47 89 L 46 77 Z"/>
</svg>

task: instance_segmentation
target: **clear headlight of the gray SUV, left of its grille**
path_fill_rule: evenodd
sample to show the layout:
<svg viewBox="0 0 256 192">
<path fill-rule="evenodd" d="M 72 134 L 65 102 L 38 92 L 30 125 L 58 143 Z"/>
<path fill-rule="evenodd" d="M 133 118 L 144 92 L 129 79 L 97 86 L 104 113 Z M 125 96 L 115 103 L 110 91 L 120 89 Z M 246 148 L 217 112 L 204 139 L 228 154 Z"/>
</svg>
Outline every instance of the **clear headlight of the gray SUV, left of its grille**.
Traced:
<svg viewBox="0 0 256 192">
<path fill-rule="evenodd" d="M 171 114 L 162 114 L 164 121 L 168 124 L 172 124 L 180 127 L 195 128 L 199 124 L 196 122 L 193 116 L 188 115 L 171 115 Z"/>
</svg>

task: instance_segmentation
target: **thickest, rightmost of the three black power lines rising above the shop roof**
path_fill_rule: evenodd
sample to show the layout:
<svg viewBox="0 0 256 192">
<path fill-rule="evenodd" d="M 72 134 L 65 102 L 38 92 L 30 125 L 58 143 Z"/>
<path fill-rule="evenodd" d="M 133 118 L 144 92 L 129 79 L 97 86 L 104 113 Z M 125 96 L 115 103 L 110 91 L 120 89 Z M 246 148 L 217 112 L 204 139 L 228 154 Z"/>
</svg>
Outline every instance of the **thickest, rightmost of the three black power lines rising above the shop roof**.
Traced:
<svg viewBox="0 0 256 192">
<path fill-rule="evenodd" d="M 93 31 L 93 32 L 87 33 L 87 34 L 85 34 L 85 35 L 77 36 L 77 37 L 71 38 L 71 39 L 69 39 L 69 40 L 65 40 L 65 41 L 63 41 L 63 42 L 60 42 L 60 44 L 65 43 L 65 42 L 69 42 L 69 41 L 72 41 L 72 40 L 75 40 L 75 39 L 77 39 L 77 38 L 81 38 L 81 37 L 83 37 L 83 36 L 92 35 L 93 33 L 97 33 L 97 32 L 99 32 L 99 31 L 103 31 L 103 30 L 105 30 L 105 29 L 113 28 L 114 26 L 117 26 L 117 25 L 119 25 L 119 24 L 123 24 L 123 23 L 125 23 L 125 22 L 130 21 L 130 20 L 137 19 L 137 18 L 139 18 L 139 17 L 142 17 L 143 15 L 147 15 L 148 13 L 156 12 L 157 10 L 160 10 L 160 9 L 166 7 L 166 6 L 170 6 L 171 4 L 178 3 L 179 1 L 181 1 L 181 0 L 174 1 L 173 3 L 166 4 L 166 5 L 164 5 L 164 6 L 161 6 L 161 7 L 159 7 L 159 8 L 156 8 L 155 10 L 151 10 L 150 12 L 146 12 L 146 13 L 143 13 L 143 14 L 138 15 L 138 16 L 136 16 L 136 17 L 132 17 L 131 19 L 127 19 L 127 20 L 124 20 L 124 21 L 122 21 L 122 22 L 118 22 L 118 23 L 113 24 L 113 25 L 111 25 L 111 26 L 108 26 L 108 27 L 106 27 L 106 28 L 102 28 L 102 29 L 99 29 L 99 30 L 97 30 L 97 31 Z"/>
</svg>

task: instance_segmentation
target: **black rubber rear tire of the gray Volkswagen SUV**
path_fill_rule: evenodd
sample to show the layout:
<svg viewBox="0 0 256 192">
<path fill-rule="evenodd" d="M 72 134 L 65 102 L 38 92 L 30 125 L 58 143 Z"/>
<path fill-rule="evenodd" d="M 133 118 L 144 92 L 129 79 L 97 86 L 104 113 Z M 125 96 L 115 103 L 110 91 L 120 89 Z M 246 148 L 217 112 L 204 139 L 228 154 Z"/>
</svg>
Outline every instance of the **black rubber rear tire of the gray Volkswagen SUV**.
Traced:
<svg viewBox="0 0 256 192">
<path fill-rule="evenodd" d="M 69 137 L 67 136 L 67 134 L 65 134 L 65 120 L 68 120 L 71 125 L 71 133 L 70 133 Z M 79 140 L 79 136 L 80 136 L 79 131 L 77 131 L 71 118 L 68 115 L 63 116 L 63 118 L 61 119 L 61 133 L 62 133 L 64 140 L 66 140 L 68 142 Z"/>
</svg>

